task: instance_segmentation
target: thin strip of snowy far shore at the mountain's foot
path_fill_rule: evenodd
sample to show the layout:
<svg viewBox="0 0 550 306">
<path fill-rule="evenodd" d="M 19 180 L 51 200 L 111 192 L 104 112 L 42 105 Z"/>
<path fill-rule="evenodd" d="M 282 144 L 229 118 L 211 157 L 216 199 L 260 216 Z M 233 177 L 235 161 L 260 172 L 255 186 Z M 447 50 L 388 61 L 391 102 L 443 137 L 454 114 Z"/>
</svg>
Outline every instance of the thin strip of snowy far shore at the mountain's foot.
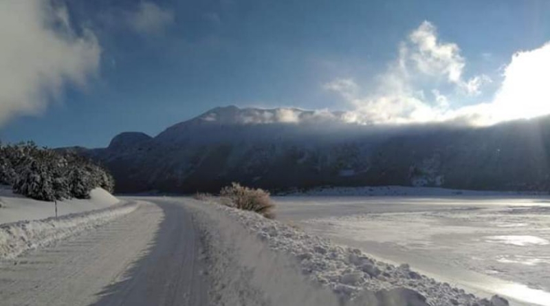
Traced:
<svg viewBox="0 0 550 306">
<path fill-rule="evenodd" d="M 536 191 L 491 191 L 491 190 L 459 190 L 438 187 L 409 187 L 409 186 L 362 186 L 362 187 L 331 187 L 322 186 L 302 191 L 291 191 L 280 195 L 327 195 L 327 196 L 386 196 L 386 195 L 407 195 L 407 196 L 490 196 L 490 195 L 547 195 L 548 193 Z"/>
</svg>

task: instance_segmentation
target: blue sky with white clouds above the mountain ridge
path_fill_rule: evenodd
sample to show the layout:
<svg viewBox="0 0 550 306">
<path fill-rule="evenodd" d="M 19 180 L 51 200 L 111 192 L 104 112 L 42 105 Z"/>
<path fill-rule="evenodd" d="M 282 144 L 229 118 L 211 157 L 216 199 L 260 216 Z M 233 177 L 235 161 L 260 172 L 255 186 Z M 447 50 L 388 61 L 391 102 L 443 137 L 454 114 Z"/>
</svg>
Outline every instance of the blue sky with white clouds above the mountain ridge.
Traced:
<svg viewBox="0 0 550 306">
<path fill-rule="evenodd" d="M 502 101 L 522 97 L 519 73 L 550 63 L 547 0 L 28 2 L 0 4 L 25 15 L 0 21 L 0 40 L 36 34 L 51 48 L 28 43 L 5 56 L 0 47 L 0 67 L 17 63 L 0 74 L 16 83 L 0 102 L 8 142 L 106 146 L 122 131 L 156 135 L 224 105 L 355 111 L 373 123 L 454 120 L 471 115 L 467 106 L 511 105 Z M 13 30 L 25 18 L 36 26 Z M 529 59 L 533 50 L 542 51 Z M 52 63 L 47 72 L 43 63 Z M 547 112 L 533 107 L 525 118 Z"/>
</svg>

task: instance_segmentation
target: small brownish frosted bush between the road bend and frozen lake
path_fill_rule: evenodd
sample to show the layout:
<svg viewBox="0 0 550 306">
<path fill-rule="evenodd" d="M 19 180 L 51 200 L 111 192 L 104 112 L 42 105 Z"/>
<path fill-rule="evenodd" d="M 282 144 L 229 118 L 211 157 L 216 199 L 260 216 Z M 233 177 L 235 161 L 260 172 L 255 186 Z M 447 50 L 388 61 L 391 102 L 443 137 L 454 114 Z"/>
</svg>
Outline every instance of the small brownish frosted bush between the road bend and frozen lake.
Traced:
<svg viewBox="0 0 550 306">
<path fill-rule="evenodd" d="M 263 189 L 254 189 L 232 183 L 220 191 L 222 198 L 230 199 L 231 206 L 242 210 L 252 210 L 266 218 L 273 219 L 275 204 L 270 199 L 270 193 Z"/>
</svg>

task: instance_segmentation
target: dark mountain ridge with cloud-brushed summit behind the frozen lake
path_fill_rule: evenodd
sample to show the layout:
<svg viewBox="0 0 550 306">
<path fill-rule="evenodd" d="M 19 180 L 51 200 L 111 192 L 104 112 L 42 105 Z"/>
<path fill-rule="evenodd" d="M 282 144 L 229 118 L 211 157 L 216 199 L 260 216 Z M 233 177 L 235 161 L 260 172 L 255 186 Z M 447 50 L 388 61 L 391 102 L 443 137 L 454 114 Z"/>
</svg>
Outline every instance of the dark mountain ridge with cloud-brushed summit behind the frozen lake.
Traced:
<svg viewBox="0 0 550 306">
<path fill-rule="evenodd" d="M 349 123 L 345 112 L 218 107 L 155 137 L 116 135 L 81 153 L 111 170 L 119 193 L 441 186 L 549 190 L 550 119 L 492 127 Z"/>
</svg>

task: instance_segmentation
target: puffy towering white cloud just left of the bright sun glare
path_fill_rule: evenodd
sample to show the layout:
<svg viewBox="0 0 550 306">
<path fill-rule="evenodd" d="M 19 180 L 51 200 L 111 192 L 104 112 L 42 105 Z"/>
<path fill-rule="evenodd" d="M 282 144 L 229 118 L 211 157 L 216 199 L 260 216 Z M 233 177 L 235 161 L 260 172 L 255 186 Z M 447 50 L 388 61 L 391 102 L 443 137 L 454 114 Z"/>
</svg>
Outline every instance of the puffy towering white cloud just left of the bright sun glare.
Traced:
<svg viewBox="0 0 550 306">
<path fill-rule="evenodd" d="M 350 121 L 428 122 L 437 116 L 443 95 L 437 91 L 430 105 L 423 87 L 417 85 L 419 76 L 436 81 L 443 78 L 459 87 L 463 83 L 463 62 L 458 47 L 439 43 L 433 25 L 424 22 L 410 34 L 408 41 L 399 45 L 398 58 L 388 65 L 384 74 L 377 76 L 377 86 L 370 95 L 358 94 L 360 87 L 351 78 L 338 78 L 324 88 L 336 91 L 353 105 L 355 111 L 346 117 Z"/>
</svg>

